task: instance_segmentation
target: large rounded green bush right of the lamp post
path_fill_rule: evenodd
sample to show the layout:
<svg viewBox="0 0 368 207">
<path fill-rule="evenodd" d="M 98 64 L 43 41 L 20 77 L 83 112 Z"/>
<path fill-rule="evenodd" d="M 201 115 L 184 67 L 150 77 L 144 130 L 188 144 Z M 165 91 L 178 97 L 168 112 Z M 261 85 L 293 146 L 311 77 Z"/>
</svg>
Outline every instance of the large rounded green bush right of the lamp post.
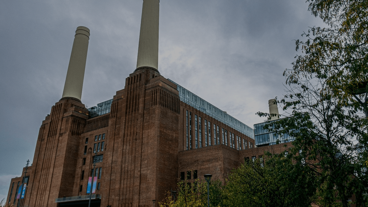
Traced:
<svg viewBox="0 0 368 207">
<path fill-rule="evenodd" d="M 313 177 L 308 169 L 295 165 L 284 153 L 267 155 L 264 165 L 256 159 L 233 170 L 224 186 L 224 206 L 311 206 L 311 192 L 315 188 L 310 185 Z M 292 177 L 297 179 L 290 179 Z"/>
</svg>

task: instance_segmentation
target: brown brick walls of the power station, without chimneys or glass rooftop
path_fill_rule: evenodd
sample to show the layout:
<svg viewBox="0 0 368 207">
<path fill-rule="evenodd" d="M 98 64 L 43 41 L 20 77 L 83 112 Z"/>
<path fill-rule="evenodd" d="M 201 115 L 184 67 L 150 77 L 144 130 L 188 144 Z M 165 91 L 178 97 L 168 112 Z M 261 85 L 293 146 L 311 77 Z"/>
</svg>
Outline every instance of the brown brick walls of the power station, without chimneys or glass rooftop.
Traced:
<svg viewBox="0 0 368 207">
<path fill-rule="evenodd" d="M 190 123 L 187 111 L 191 115 Z M 207 132 L 211 145 L 208 141 L 207 147 L 205 120 L 210 122 Z M 191 127 L 188 150 L 187 123 Z M 222 129 L 227 131 L 224 140 Z M 231 137 L 234 134 L 233 147 L 230 147 L 230 133 Z M 236 137 L 240 137 L 240 142 Z M 97 162 L 93 169 L 100 186 L 96 194 L 101 195 L 101 200 L 93 206 L 148 207 L 153 199 L 160 201 L 168 190 L 176 189 L 181 172 L 197 170 L 198 178 L 210 173 L 213 179 L 225 182 L 231 169 L 244 162 L 244 157 L 259 156 L 264 150 L 284 149 L 280 145 L 250 148 L 250 143 L 254 146 L 252 138 L 180 101 L 175 84 L 157 71 L 143 68 L 126 78 L 125 88 L 113 97 L 110 113 L 88 118 L 85 106 L 68 98 L 52 106 L 39 130 L 21 206 L 78 204 L 58 204 L 55 199 L 86 195 L 96 150 L 98 155 L 103 155 L 102 162 Z M 11 180 L 7 202 L 9 199 L 13 202 L 16 193 L 13 186 L 10 198 L 12 184 L 21 179 Z"/>
</svg>

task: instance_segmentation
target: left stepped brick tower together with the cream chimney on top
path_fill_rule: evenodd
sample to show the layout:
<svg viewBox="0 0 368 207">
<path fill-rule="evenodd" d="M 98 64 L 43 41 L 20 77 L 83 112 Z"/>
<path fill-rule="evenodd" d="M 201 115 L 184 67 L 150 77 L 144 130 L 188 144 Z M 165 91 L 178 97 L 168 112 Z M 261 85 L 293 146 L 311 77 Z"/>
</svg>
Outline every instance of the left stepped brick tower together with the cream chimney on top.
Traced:
<svg viewBox="0 0 368 207">
<path fill-rule="evenodd" d="M 42 122 L 33 157 L 26 206 L 56 206 L 55 198 L 72 196 L 79 135 L 88 110 L 81 103 L 89 29 L 78 27 L 63 97 Z"/>
</svg>

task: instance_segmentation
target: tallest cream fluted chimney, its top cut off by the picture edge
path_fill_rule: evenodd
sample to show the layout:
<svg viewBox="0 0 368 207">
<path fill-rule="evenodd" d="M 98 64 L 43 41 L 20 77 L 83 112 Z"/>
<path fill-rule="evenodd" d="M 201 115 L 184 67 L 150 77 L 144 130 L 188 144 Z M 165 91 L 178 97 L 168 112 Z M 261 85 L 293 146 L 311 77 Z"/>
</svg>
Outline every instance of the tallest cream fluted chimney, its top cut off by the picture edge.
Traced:
<svg viewBox="0 0 368 207">
<path fill-rule="evenodd" d="M 158 72 L 159 0 L 143 0 L 137 70 L 149 67 Z"/>
</svg>

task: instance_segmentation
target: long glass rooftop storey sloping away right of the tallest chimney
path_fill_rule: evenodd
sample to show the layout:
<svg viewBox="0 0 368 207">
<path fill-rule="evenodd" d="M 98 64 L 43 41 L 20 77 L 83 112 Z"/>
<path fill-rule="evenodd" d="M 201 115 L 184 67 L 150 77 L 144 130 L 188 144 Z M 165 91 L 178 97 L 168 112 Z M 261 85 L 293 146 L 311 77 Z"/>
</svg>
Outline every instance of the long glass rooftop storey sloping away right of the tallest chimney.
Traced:
<svg viewBox="0 0 368 207">
<path fill-rule="evenodd" d="M 239 132 L 247 135 L 248 137 L 254 138 L 254 131 L 251 127 L 245 125 L 244 123 L 241 123 L 239 120 L 228 115 L 227 113 L 223 112 L 216 106 L 213 106 L 212 104 L 208 103 L 207 101 L 203 100 L 202 98 L 198 97 L 197 95 L 193 94 L 187 89 L 181 87 L 174 81 L 170 79 L 167 80 L 177 85 L 180 101 L 187 103 L 188 105 L 194 107 L 195 109 L 200 110 L 201 112 L 213 117 L 214 119 L 226 124 L 227 126 L 232 127 L 235 130 L 238 130 Z"/>
</svg>

